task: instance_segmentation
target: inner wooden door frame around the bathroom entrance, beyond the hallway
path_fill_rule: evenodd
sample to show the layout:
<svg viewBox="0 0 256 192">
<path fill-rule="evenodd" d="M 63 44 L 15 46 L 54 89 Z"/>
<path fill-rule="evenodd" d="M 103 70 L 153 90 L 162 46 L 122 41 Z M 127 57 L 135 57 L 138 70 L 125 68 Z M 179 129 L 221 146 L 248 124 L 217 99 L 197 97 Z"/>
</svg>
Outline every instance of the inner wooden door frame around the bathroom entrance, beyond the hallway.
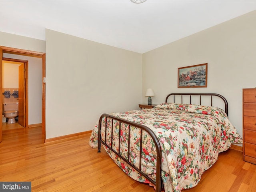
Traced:
<svg viewBox="0 0 256 192">
<path fill-rule="evenodd" d="M 24 63 L 25 68 L 25 127 L 28 128 L 28 61 L 21 59 L 2 58 L 3 61 L 14 61 Z"/>
</svg>

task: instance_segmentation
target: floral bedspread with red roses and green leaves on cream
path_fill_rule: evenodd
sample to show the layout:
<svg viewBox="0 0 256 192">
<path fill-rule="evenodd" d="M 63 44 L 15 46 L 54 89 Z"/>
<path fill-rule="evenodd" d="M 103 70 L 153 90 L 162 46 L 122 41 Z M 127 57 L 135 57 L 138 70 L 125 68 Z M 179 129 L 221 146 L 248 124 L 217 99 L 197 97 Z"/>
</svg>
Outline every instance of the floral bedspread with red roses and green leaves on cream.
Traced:
<svg viewBox="0 0 256 192">
<path fill-rule="evenodd" d="M 216 107 L 193 104 L 163 103 L 152 109 L 134 110 L 111 115 L 148 126 L 154 131 L 162 149 L 162 179 L 166 192 L 180 192 L 198 184 L 204 171 L 218 159 L 218 154 L 228 150 L 232 142 L 242 143 L 242 138 L 229 121 L 226 113 Z M 105 119 L 103 119 L 105 121 Z M 108 121 L 107 121 L 108 122 Z M 110 122 L 107 127 L 111 126 Z M 113 125 L 113 148 L 128 158 L 128 126 L 121 126 L 121 143 L 118 144 L 119 124 Z M 103 129 L 104 130 L 104 129 Z M 138 166 L 140 130 L 131 127 L 130 162 Z M 106 142 L 111 143 L 111 132 Z M 156 150 L 150 137 L 142 134 L 142 170 L 155 178 Z M 98 147 L 98 122 L 90 136 L 90 146 Z M 116 164 L 130 177 L 149 183 L 142 175 L 126 164 L 116 154 L 105 148 Z"/>
</svg>

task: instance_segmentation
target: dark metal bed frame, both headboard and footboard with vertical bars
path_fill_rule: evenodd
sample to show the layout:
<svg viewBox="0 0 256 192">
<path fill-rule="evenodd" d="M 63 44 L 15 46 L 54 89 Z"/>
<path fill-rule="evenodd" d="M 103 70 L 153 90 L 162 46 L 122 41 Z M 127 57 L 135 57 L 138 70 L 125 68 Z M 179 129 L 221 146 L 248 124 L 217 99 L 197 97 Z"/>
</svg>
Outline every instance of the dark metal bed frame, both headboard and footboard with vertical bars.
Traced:
<svg viewBox="0 0 256 192">
<path fill-rule="evenodd" d="M 199 96 L 200 97 L 200 105 L 201 105 L 201 96 L 210 96 L 210 100 L 211 100 L 211 106 L 212 106 L 212 100 L 213 100 L 213 96 L 219 97 L 222 99 L 222 101 L 225 104 L 225 112 L 228 115 L 228 102 L 226 100 L 226 98 L 224 98 L 222 95 L 220 94 L 215 94 L 215 93 L 171 93 L 168 94 L 168 96 L 166 96 L 166 100 L 165 102 L 168 101 L 168 98 L 170 96 L 173 96 L 173 100 L 175 102 L 175 96 L 181 96 L 181 103 L 183 104 L 183 96 L 184 95 L 189 95 L 190 96 L 190 104 L 191 103 L 191 98 L 192 96 Z M 124 158 L 122 155 L 120 155 L 120 147 L 119 147 L 119 151 L 116 152 L 113 148 L 112 148 L 112 141 L 113 139 L 111 138 L 111 143 L 110 145 L 106 144 L 106 134 L 105 134 L 105 139 L 102 140 L 101 138 L 101 128 L 102 128 L 102 119 L 105 118 L 105 132 L 107 129 L 107 119 L 110 119 L 112 122 L 112 130 L 111 130 L 111 135 L 113 137 L 113 120 L 116 120 L 119 123 L 119 146 L 120 146 L 120 128 L 121 128 L 121 124 L 127 124 L 128 125 L 128 159 Z M 140 164 L 139 164 L 139 168 L 137 168 L 136 166 L 134 166 L 132 163 L 130 163 L 130 126 L 134 126 L 136 128 L 139 128 L 143 131 L 146 131 L 150 137 L 152 138 L 155 146 L 156 146 L 156 180 L 152 180 L 148 175 L 146 175 L 144 172 L 142 172 L 141 170 L 141 155 L 142 155 L 142 147 L 140 147 Z M 142 131 L 140 132 L 140 138 L 142 138 Z M 146 178 L 147 180 L 149 180 L 152 184 L 154 184 L 156 186 L 156 192 L 161 192 L 161 188 L 163 187 L 162 184 L 162 177 L 161 177 L 161 172 L 162 172 L 162 168 L 161 168 L 161 159 L 162 159 L 162 151 L 161 151 L 161 146 L 160 146 L 160 142 L 158 140 L 158 138 L 156 137 L 156 135 L 154 134 L 154 132 L 148 128 L 147 126 L 144 126 L 142 124 L 138 124 L 135 122 L 131 122 L 128 120 L 124 120 L 122 118 L 118 118 L 109 114 L 102 114 L 100 116 L 99 119 L 99 126 L 98 126 L 98 152 L 100 152 L 101 149 L 101 143 L 103 145 L 105 145 L 107 148 L 109 148 L 112 152 L 114 152 L 117 156 L 119 156 L 120 158 L 122 158 L 122 160 L 124 160 L 127 164 L 129 164 L 132 168 L 134 168 L 137 172 L 139 172 L 142 176 L 144 176 L 144 178 Z M 142 139 L 140 140 L 140 146 L 142 146 Z"/>
</svg>

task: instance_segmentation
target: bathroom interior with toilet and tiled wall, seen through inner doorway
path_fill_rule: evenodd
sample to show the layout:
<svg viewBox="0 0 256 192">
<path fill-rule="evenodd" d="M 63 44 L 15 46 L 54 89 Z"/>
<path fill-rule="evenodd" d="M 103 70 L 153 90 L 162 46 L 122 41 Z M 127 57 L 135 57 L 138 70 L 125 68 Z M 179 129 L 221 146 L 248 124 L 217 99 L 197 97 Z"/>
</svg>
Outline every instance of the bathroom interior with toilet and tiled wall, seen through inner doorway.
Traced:
<svg viewBox="0 0 256 192">
<path fill-rule="evenodd" d="M 2 101 L 3 130 L 11 128 L 22 128 L 24 124 L 19 124 L 18 103 L 19 101 L 19 67 L 24 66 L 22 62 L 4 60 L 2 63 Z M 6 104 L 6 106 L 4 106 Z M 14 108 L 10 108 L 10 106 Z M 5 113 L 4 108 L 12 110 L 12 113 Z M 9 110 L 9 109 L 8 109 Z M 17 111 L 17 112 L 16 112 Z M 10 111 L 8 111 L 10 112 Z"/>
</svg>

